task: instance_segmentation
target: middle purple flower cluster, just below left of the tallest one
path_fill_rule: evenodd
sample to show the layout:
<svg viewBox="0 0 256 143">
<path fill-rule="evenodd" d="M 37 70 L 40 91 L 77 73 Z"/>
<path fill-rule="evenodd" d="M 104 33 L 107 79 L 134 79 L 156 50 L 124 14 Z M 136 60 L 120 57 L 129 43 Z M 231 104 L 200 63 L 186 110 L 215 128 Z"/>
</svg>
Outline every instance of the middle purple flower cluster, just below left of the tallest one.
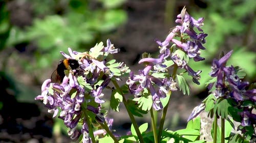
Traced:
<svg viewBox="0 0 256 143">
<path fill-rule="evenodd" d="M 139 70 L 139 75 L 135 75 L 134 72 L 131 72 L 130 78 L 126 81 L 126 84 L 129 85 L 129 90 L 134 97 L 140 97 L 143 94 L 144 89 L 147 89 L 148 92 L 146 94 L 152 95 L 152 106 L 156 110 L 163 108 L 160 98 L 165 98 L 169 90 L 177 90 L 176 82 L 172 78 L 159 79 L 150 74 L 150 70 L 153 70 L 154 66 L 161 65 L 163 62 L 164 54 L 160 54 L 158 59 L 144 58 L 140 60 L 139 63 L 147 63 L 147 66 L 143 70 Z M 157 90 L 154 88 L 153 84 L 158 87 Z"/>
</svg>

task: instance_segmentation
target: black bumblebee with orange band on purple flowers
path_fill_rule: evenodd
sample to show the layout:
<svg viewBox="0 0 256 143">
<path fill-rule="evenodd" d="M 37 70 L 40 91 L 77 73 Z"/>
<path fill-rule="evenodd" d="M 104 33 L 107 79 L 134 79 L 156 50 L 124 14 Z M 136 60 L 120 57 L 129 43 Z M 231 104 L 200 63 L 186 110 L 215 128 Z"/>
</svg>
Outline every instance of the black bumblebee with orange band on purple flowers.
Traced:
<svg viewBox="0 0 256 143">
<path fill-rule="evenodd" d="M 52 73 L 52 82 L 61 83 L 65 77 L 65 70 L 75 70 L 79 68 L 79 63 L 74 59 L 60 60 L 57 69 Z"/>
</svg>

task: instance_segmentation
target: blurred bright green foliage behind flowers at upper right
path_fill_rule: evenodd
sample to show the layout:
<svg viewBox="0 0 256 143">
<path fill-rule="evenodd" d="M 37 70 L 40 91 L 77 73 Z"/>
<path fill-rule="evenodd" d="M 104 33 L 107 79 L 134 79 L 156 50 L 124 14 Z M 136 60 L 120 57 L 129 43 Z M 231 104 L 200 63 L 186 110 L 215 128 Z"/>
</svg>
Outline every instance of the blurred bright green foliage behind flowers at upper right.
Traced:
<svg viewBox="0 0 256 143">
<path fill-rule="evenodd" d="M 206 50 L 201 55 L 206 59 L 204 62 L 189 63 L 200 74 L 200 86 L 193 88 L 205 89 L 205 83 L 209 80 L 208 73 L 211 71 L 212 59 L 218 58 L 224 51 L 227 53 L 233 49 L 233 54 L 227 65 L 240 66 L 246 72 L 246 78 L 255 82 L 256 78 L 256 54 L 255 38 L 256 21 L 254 20 L 256 3 L 247 1 L 204 1 L 206 9 L 187 8 L 188 13 L 194 18 L 204 17 L 203 30 L 208 34 L 204 46 Z"/>
</svg>

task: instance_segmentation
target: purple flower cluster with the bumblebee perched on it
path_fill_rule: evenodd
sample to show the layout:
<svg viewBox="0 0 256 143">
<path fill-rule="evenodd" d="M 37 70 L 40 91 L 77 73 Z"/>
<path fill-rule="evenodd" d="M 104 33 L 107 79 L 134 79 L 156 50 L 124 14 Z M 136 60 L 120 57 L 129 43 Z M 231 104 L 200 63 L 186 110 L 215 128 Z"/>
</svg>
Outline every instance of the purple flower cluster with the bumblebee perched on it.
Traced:
<svg viewBox="0 0 256 143">
<path fill-rule="evenodd" d="M 85 116 L 90 116 L 90 119 L 100 123 L 105 121 L 104 114 L 101 113 L 101 104 L 105 102 L 102 99 L 104 96 L 102 90 L 114 76 L 114 73 L 106 66 L 106 60 L 102 57 L 109 53 L 116 53 L 118 50 L 110 40 L 107 41 L 106 47 L 98 46 L 91 49 L 91 51 L 99 50 L 97 53 L 77 52 L 72 51 L 71 48 L 68 50 L 70 55 L 64 52 L 60 53 L 66 59 L 77 60 L 79 69 L 68 70 L 69 73 L 61 83 L 51 82 L 51 79 L 45 80 L 41 87 L 41 95 L 38 95 L 35 100 L 42 100 L 49 109 L 48 112 L 53 112 L 53 117 L 58 115 L 58 118 L 64 121 L 72 139 L 83 135 L 83 142 L 91 142 L 89 125 Z M 101 58 L 100 61 L 96 59 L 98 56 Z M 87 114 L 87 112 L 91 113 Z M 107 121 L 111 127 L 113 120 Z M 80 130 L 78 130 L 78 122 L 82 123 Z M 99 131 L 96 131 L 95 135 L 98 134 Z"/>
</svg>

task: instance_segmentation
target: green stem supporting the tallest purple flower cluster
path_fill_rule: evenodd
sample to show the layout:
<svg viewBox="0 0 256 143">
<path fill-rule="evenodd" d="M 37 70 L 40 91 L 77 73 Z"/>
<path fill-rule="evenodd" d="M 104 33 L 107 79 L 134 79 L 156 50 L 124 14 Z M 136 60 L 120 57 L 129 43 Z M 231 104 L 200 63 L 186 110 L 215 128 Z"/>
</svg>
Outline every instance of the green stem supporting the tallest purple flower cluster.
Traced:
<svg viewBox="0 0 256 143">
<path fill-rule="evenodd" d="M 173 75 L 172 75 L 172 78 L 173 78 L 173 79 L 175 79 L 175 77 L 176 77 L 177 69 L 178 69 L 178 66 L 175 65 L 175 66 L 174 66 L 174 70 L 173 70 Z M 169 92 L 166 96 L 171 96 L 171 95 L 172 95 L 172 92 Z M 162 117 L 161 117 L 161 120 L 160 120 L 160 125 L 159 125 L 158 135 L 157 135 L 158 142 L 161 141 L 161 136 L 162 136 L 162 132 L 163 132 L 164 120 L 165 120 L 165 117 L 166 117 L 166 114 L 167 114 L 169 102 L 170 102 L 170 97 L 169 97 L 168 103 L 167 103 L 166 106 L 163 108 L 163 114 L 162 114 Z"/>
</svg>

